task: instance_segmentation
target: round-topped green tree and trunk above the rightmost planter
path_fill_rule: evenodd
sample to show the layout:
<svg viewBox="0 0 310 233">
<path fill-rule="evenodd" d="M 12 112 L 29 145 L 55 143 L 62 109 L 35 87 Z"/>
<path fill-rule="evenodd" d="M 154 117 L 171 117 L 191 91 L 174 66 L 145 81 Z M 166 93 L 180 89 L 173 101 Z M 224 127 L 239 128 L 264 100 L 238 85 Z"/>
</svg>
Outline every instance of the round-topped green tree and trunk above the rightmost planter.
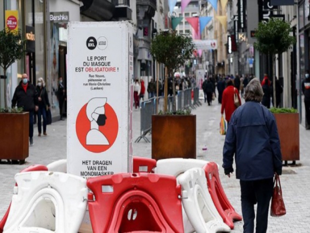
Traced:
<svg viewBox="0 0 310 233">
<path fill-rule="evenodd" d="M 254 43 L 254 48 L 272 57 L 273 106 L 277 106 L 275 80 L 276 54 L 281 55 L 291 45 L 296 43 L 295 37 L 290 35 L 291 31 L 290 23 L 278 18 L 270 18 L 268 22 L 260 22 L 258 29 L 255 31 L 257 42 Z"/>
</svg>

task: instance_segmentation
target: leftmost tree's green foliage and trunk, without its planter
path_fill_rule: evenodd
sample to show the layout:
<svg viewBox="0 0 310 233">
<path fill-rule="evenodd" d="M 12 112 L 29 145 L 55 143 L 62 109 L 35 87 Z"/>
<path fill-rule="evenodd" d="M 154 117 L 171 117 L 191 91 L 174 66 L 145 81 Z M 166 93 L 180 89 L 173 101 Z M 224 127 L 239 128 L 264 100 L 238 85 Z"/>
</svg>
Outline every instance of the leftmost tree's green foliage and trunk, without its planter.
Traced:
<svg viewBox="0 0 310 233">
<path fill-rule="evenodd" d="M 6 70 L 25 54 L 25 39 L 20 32 L 3 29 L 0 31 L 0 67 Z M 7 80 L 7 79 L 6 79 Z M 7 83 L 4 82 L 4 93 L 7 92 Z M 6 94 L 4 95 L 4 107 L 7 108 Z"/>
</svg>

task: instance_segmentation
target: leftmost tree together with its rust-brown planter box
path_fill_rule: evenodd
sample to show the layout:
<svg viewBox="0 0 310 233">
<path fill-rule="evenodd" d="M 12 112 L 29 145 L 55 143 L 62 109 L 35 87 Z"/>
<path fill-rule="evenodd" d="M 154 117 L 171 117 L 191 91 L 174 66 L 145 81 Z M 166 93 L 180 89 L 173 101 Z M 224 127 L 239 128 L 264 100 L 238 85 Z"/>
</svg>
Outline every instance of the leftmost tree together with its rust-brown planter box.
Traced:
<svg viewBox="0 0 310 233">
<path fill-rule="evenodd" d="M 25 54 L 25 43 L 20 32 L 7 28 L 0 31 L 0 67 L 5 78 L 4 109 L 0 109 L 0 161 L 18 160 L 20 164 L 29 156 L 29 113 L 24 113 L 23 109 L 8 108 L 6 71 Z"/>
</svg>

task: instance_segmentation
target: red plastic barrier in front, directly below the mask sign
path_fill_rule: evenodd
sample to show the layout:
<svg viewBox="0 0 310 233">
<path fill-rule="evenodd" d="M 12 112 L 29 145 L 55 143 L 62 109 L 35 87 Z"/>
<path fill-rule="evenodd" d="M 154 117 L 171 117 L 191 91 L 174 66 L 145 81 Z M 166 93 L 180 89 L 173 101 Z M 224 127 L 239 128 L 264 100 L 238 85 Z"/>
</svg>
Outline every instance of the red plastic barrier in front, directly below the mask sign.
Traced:
<svg viewBox="0 0 310 233">
<path fill-rule="evenodd" d="M 119 173 L 91 178 L 87 186 L 93 233 L 184 233 L 181 186 L 173 176 Z"/>
</svg>

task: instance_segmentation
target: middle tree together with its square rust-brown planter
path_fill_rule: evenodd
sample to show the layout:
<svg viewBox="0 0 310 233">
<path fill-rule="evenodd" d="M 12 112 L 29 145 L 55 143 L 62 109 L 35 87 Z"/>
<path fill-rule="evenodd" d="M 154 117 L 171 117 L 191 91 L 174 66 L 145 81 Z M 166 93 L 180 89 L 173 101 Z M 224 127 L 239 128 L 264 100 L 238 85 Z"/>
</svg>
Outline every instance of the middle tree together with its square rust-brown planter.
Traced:
<svg viewBox="0 0 310 233">
<path fill-rule="evenodd" d="M 151 55 L 165 65 L 172 77 L 173 104 L 168 113 L 168 77 L 165 77 L 163 115 L 152 116 L 152 158 L 196 158 L 196 116 L 176 111 L 173 74 L 189 60 L 195 46 L 192 38 L 175 31 L 160 32 L 151 43 Z"/>
</svg>

